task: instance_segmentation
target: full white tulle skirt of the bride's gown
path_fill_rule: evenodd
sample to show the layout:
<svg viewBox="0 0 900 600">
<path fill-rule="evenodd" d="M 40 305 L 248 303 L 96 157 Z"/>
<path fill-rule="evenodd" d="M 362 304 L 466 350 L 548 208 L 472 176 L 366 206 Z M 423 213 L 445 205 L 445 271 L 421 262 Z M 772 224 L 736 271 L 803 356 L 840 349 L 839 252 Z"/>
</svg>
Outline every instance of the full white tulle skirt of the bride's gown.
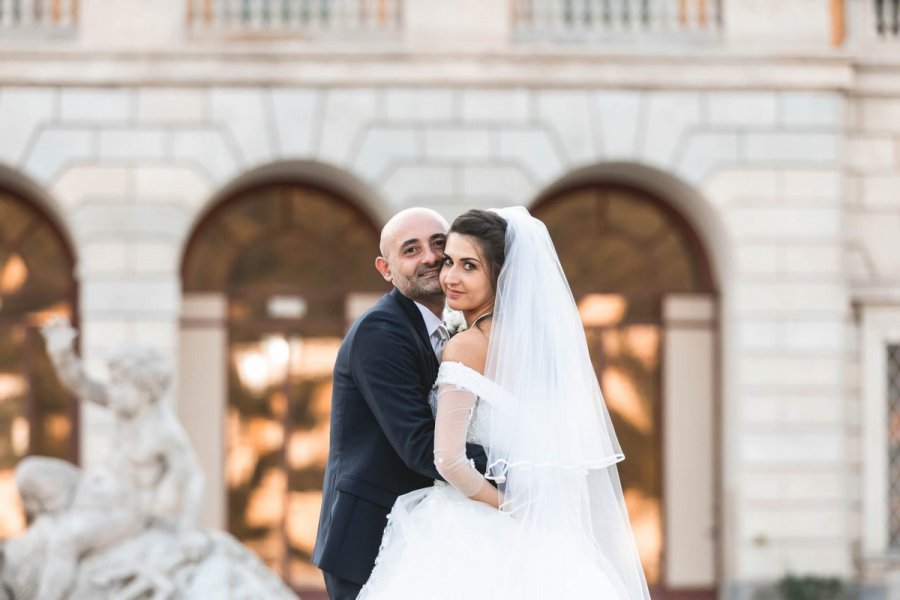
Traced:
<svg viewBox="0 0 900 600">
<path fill-rule="evenodd" d="M 625 598 L 596 548 L 437 483 L 397 499 L 358 600 Z"/>
</svg>

